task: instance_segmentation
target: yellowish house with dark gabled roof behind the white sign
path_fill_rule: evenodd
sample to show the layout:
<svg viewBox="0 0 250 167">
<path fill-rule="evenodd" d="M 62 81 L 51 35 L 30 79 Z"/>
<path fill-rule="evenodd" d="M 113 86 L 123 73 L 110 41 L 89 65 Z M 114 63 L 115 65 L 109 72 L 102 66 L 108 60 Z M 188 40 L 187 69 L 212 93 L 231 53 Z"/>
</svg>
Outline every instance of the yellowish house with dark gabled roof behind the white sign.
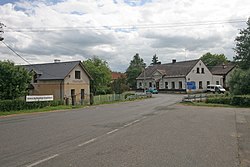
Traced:
<svg viewBox="0 0 250 167">
<path fill-rule="evenodd" d="M 67 103 L 89 103 L 91 76 L 81 61 L 24 65 L 33 78 L 30 95 L 53 95 Z"/>
</svg>

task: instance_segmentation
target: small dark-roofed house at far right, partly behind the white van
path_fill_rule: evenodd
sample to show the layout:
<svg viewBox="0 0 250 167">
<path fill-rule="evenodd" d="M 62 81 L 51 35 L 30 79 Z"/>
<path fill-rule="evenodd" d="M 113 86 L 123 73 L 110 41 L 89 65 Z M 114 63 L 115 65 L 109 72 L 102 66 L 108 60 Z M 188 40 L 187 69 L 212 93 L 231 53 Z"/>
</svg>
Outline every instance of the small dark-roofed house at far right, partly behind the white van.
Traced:
<svg viewBox="0 0 250 167">
<path fill-rule="evenodd" d="M 233 73 L 233 71 L 236 69 L 236 65 L 232 62 L 229 62 L 227 64 L 221 64 L 218 66 L 214 66 L 210 69 L 211 73 L 213 75 L 222 76 L 222 86 L 226 89 L 228 89 L 228 81 Z"/>
</svg>

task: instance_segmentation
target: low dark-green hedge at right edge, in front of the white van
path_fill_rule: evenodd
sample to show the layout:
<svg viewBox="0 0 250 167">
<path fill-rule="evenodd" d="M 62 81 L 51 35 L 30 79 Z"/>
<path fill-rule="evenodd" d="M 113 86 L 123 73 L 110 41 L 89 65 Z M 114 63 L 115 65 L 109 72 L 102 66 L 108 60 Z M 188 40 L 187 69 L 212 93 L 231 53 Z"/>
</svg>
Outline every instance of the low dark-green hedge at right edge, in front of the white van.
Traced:
<svg viewBox="0 0 250 167">
<path fill-rule="evenodd" d="M 250 107 L 250 95 L 209 97 L 206 103 L 228 104 L 240 107 Z"/>
</svg>

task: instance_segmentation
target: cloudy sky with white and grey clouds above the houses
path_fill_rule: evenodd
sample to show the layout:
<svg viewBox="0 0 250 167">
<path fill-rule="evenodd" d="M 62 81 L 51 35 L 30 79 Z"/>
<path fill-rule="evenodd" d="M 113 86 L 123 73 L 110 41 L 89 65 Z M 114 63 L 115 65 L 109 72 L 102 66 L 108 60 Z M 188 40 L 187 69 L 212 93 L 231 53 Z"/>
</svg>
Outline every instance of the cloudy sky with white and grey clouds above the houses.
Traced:
<svg viewBox="0 0 250 167">
<path fill-rule="evenodd" d="M 94 55 L 124 72 L 139 53 L 147 65 L 233 58 L 234 38 L 250 17 L 249 0 L 0 0 L 4 42 L 29 63 Z M 0 60 L 27 64 L 4 43 Z"/>
</svg>

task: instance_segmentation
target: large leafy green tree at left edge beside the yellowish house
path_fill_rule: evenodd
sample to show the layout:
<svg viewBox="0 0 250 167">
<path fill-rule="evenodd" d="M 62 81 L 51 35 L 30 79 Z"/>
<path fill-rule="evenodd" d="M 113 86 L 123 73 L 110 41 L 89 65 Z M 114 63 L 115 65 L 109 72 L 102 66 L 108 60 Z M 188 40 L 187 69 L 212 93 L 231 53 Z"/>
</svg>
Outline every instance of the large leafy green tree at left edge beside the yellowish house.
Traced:
<svg viewBox="0 0 250 167">
<path fill-rule="evenodd" d="M 27 95 L 31 74 L 22 66 L 0 61 L 0 99 L 13 100 Z"/>
</svg>

